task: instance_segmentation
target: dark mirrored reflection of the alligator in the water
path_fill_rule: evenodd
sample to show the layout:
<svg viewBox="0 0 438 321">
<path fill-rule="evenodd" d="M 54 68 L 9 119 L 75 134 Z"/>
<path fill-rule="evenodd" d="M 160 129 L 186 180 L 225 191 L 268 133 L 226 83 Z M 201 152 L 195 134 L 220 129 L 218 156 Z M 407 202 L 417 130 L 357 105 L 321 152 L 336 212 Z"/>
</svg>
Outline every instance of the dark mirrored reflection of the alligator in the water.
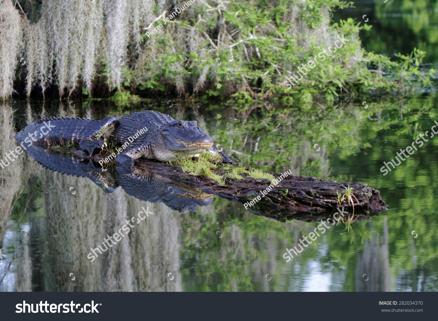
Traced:
<svg viewBox="0 0 438 321">
<path fill-rule="evenodd" d="M 128 195 L 148 202 L 162 202 L 180 213 L 196 212 L 197 206 L 207 206 L 213 195 L 199 192 L 182 182 L 173 181 L 151 170 L 134 168 L 125 174 L 117 170 L 102 171 L 91 160 L 81 160 L 68 152 L 53 151 L 50 148 L 32 145 L 26 150 L 39 164 L 65 175 L 87 177 L 103 191 L 112 193 L 119 186 Z"/>
</svg>

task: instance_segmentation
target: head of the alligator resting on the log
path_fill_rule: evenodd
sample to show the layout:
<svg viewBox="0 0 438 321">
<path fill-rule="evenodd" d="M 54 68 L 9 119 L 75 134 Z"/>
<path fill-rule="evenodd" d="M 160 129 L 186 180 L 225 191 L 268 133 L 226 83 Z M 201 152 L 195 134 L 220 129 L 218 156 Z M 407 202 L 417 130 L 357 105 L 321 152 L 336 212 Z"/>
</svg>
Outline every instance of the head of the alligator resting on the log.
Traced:
<svg viewBox="0 0 438 321">
<path fill-rule="evenodd" d="M 154 154 L 164 161 L 176 160 L 177 157 L 187 158 L 205 153 L 213 146 L 210 136 L 202 132 L 196 121 L 174 120 L 160 128 L 162 148 L 155 144 Z M 161 159 L 160 159 L 161 160 Z"/>
</svg>

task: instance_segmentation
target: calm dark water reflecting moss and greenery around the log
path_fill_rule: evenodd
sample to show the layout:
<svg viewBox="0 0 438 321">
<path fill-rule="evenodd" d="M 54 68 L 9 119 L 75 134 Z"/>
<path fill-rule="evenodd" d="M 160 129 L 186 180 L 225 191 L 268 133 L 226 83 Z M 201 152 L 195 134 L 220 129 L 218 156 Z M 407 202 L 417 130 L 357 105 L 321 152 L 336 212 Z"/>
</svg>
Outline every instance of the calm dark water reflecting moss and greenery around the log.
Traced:
<svg viewBox="0 0 438 321">
<path fill-rule="evenodd" d="M 436 63 L 437 2 L 391 1 L 357 2 L 356 9 L 335 14 L 358 20 L 369 15 L 373 31 L 361 34 L 367 50 L 391 55 L 417 46 L 428 51 L 427 63 Z M 424 6 L 428 20 L 417 17 L 424 16 Z M 89 178 L 50 171 L 22 154 L 0 169 L 6 255 L 0 260 L 0 290 L 437 291 L 438 137 L 389 174 L 380 168 L 430 131 L 438 121 L 438 96 L 376 98 L 367 101 L 367 109 L 363 100 L 325 110 L 168 99 L 125 106 L 18 100 L 0 105 L 1 158 L 16 146 L 14 131 L 41 117 L 102 119 L 154 109 L 197 120 L 237 164 L 364 182 L 388 204 L 388 211 L 354 222 L 352 230 L 332 227 L 286 262 L 286 248 L 318 223 L 278 222 L 219 197 L 180 213 L 170 203 L 147 202 L 121 187 L 105 192 Z M 315 154 L 315 144 L 322 153 Z M 152 214 L 91 262 L 90 249 L 142 207 Z"/>
</svg>

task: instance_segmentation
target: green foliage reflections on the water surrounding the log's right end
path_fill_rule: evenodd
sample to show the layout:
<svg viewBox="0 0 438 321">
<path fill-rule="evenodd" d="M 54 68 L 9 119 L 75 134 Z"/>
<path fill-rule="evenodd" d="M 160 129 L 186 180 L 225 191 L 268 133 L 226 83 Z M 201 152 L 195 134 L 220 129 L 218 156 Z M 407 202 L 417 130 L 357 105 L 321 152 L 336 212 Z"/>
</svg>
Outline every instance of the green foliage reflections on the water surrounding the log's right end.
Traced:
<svg viewBox="0 0 438 321">
<path fill-rule="evenodd" d="M 405 148 L 412 142 L 413 134 L 417 135 L 418 131 L 424 133 L 433 126 L 433 119 L 437 118 L 435 106 L 438 97 L 413 96 L 404 101 L 383 100 L 377 103 L 372 103 L 371 98 L 366 99 L 367 109 L 359 103 L 345 108 L 326 108 L 325 111 L 312 108 L 299 115 L 293 111 L 285 112 L 274 104 L 270 110 L 256 108 L 245 119 L 232 122 L 228 119 L 244 115 L 244 112 L 234 111 L 235 114 L 230 115 L 232 109 L 218 107 L 217 113 L 222 115 L 222 122 L 206 119 L 209 133 L 215 141 L 223 144 L 221 146 L 226 154 L 232 154 L 240 164 L 251 164 L 270 171 L 284 171 L 284 168 L 300 164 L 297 174 L 321 178 L 322 157 L 306 158 L 305 150 L 300 147 L 305 142 L 324 144 L 329 153 L 329 166 L 334 171 L 328 178 L 336 181 L 364 181 L 366 178 L 369 185 L 380 190 L 389 203 L 389 211 L 369 221 L 330 225 L 331 229 L 317 242 L 293 258 L 293 262 L 286 263 L 282 258 L 285 248 L 296 244 L 302 235 L 308 235 L 318 223 L 273 222 L 244 212 L 238 204 L 215 199 L 215 215 L 184 216 L 186 243 L 181 251 L 184 261 L 182 270 L 187 279 L 196 280 L 190 290 L 263 290 L 258 279 L 258 267 L 272 255 L 278 275 L 284 273 L 280 271 L 287 270 L 291 279 L 305 279 L 311 273 L 306 268 L 307 264 L 316 261 L 322 272 L 331 272 L 332 269 L 345 271 L 342 290 L 353 291 L 358 260 L 365 250 L 378 249 L 385 238 L 393 276 L 400 277 L 405 273 L 403 271 L 422 267 L 426 263 L 436 265 L 438 223 L 431 213 L 438 207 L 434 196 L 434 184 L 438 181 L 434 159 L 438 155 L 431 149 L 432 145 L 424 146 L 385 177 L 379 169 L 384 160 L 395 156 L 394 150 Z M 367 115 L 378 121 L 370 121 Z M 396 147 L 389 149 L 388 142 L 395 143 Z M 438 137 L 436 141 L 429 139 L 425 144 L 438 146 Z M 231 145 L 232 151 L 227 150 Z M 347 150 L 345 147 L 357 148 Z M 362 161 L 362 157 L 366 161 Z M 420 163 L 427 165 L 420 167 Z M 338 200 L 341 198 L 342 195 L 339 195 Z M 221 241 L 215 235 L 216 230 L 224 235 Z M 420 231 L 419 238 L 412 238 L 412 230 L 416 233 Z M 233 243 L 230 235 L 234 235 Z M 275 243 L 271 244 L 269 240 L 275 240 Z M 318 243 L 324 244 L 327 250 L 321 251 Z M 267 244 L 272 249 L 269 254 Z M 415 263 L 412 255 L 417 256 Z M 253 262 L 248 263 L 249 258 Z M 290 289 L 290 284 L 278 282 L 275 275 L 269 284 L 274 290 Z M 297 285 L 293 289 L 299 290 Z"/>
</svg>

